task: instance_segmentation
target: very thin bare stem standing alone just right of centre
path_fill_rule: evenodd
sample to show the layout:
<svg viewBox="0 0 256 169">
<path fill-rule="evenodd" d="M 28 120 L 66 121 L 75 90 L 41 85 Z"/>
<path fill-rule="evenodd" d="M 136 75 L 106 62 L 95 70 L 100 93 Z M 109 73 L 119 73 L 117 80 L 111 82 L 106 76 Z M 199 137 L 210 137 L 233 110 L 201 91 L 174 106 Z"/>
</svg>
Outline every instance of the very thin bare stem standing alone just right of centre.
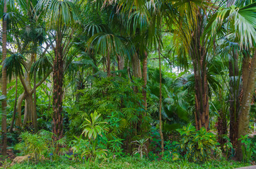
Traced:
<svg viewBox="0 0 256 169">
<path fill-rule="evenodd" d="M 162 157 L 163 157 L 163 131 L 162 131 L 162 73 L 161 73 L 161 37 L 159 37 L 158 43 L 158 58 L 159 58 L 159 133 L 161 136 L 161 149 L 162 149 Z"/>
</svg>

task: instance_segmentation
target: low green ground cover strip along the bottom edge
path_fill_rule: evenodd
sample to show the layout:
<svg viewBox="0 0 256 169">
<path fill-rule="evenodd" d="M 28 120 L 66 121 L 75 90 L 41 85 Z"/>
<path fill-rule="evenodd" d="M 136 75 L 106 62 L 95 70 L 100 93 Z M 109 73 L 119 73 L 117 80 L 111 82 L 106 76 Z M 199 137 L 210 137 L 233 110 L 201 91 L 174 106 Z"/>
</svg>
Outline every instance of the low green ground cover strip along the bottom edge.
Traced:
<svg viewBox="0 0 256 169">
<path fill-rule="evenodd" d="M 191 163 L 188 161 L 175 161 L 175 162 L 166 162 L 166 161 L 149 161 L 147 159 L 135 158 L 127 156 L 125 158 L 117 158 L 113 161 L 105 161 L 102 163 L 75 163 L 74 161 L 44 161 L 40 163 L 21 163 L 13 165 L 11 168 L 240 168 L 249 166 L 250 163 L 240 163 L 237 161 L 226 161 L 226 160 L 209 160 L 204 163 Z"/>
</svg>

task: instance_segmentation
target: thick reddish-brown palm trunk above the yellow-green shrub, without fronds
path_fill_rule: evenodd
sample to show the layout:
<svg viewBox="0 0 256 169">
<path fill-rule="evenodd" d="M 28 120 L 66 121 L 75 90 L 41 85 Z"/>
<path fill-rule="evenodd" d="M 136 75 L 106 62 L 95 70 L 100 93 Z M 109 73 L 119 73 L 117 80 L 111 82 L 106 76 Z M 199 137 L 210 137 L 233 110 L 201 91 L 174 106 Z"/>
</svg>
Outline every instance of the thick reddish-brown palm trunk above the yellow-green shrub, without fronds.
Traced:
<svg viewBox="0 0 256 169">
<path fill-rule="evenodd" d="M 197 130 L 204 127 L 209 128 L 209 96 L 208 82 L 206 79 L 206 49 L 205 42 L 201 42 L 201 37 L 204 32 L 203 15 L 199 9 L 197 20 L 195 21 L 192 32 L 192 41 L 190 42 L 190 55 L 194 68 L 194 87 L 195 87 L 195 122 Z"/>
</svg>

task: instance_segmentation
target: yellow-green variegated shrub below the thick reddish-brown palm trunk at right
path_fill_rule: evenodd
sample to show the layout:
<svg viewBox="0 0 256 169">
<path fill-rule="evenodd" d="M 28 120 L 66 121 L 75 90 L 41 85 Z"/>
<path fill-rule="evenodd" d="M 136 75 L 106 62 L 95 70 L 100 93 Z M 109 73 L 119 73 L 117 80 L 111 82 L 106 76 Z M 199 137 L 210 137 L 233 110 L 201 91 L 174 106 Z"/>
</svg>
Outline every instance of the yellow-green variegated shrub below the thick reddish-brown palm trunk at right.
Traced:
<svg viewBox="0 0 256 169">
<path fill-rule="evenodd" d="M 211 151 L 216 151 L 216 136 L 211 132 L 206 132 L 205 128 L 196 130 L 190 123 L 178 129 L 182 139 L 180 139 L 180 151 L 185 158 L 190 161 L 204 161 L 211 156 Z"/>
</svg>

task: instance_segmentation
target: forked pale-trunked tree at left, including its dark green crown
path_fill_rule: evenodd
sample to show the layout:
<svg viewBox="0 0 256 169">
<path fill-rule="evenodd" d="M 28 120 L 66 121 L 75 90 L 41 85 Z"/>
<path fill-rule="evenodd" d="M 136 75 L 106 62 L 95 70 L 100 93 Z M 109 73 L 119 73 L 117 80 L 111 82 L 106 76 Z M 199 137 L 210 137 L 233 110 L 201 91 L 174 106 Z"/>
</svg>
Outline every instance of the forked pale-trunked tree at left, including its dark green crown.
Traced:
<svg viewBox="0 0 256 169">
<path fill-rule="evenodd" d="M 24 74 L 18 75 L 21 84 L 23 86 L 24 92 L 18 96 L 17 111 L 18 118 L 16 119 L 16 125 L 21 127 L 21 105 L 25 99 L 25 111 L 23 124 L 32 121 L 33 126 L 36 128 L 37 125 L 37 113 L 35 105 L 35 97 L 33 101 L 33 94 L 35 94 L 35 89 L 45 81 L 46 77 L 36 83 L 34 74 L 34 87 L 32 86 L 32 71 L 30 68 L 36 61 L 36 55 L 39 50 L 37 50 L 37 45 L 42 44 L 44 31 L 40 27 L 42 24 L 42 17 L 38 12 L 35 12 L 36 0 L 20 0 L 20 1 L 9 1 L 8 4 L 8 24 L 11 27 L 11 36 L 17 45 L 17 51 L 25 56 L 26 59 L 24 64 Z M 13 4 L 11 4 L 13 3 Z M 47 47 L 48 48 L 48 47 Z M 45 50 L 47 50 L 47 48 Z M 42 55 L 46 51 L 42 51 Z"/>
</svg>

